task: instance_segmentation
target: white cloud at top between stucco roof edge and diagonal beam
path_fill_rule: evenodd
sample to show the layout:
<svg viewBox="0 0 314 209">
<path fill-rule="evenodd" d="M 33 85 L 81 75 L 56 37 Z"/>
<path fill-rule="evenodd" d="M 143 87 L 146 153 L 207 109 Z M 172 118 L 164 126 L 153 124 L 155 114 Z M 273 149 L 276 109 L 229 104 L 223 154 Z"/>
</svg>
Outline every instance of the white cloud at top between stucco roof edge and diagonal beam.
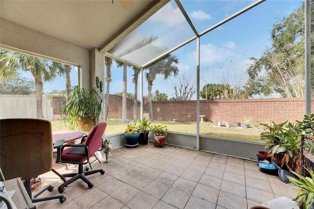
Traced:
<svg viewBox="0 0 314 209">
<path fill-rule="evenodd" d="M 171 3 L 168 3 L 162 9 L 157 11 L 150 20 L 152 22 L 162 23 L 169 26 L 181 26 L 186 22 L 180 9 L 175 9 Z"/>
</svg>

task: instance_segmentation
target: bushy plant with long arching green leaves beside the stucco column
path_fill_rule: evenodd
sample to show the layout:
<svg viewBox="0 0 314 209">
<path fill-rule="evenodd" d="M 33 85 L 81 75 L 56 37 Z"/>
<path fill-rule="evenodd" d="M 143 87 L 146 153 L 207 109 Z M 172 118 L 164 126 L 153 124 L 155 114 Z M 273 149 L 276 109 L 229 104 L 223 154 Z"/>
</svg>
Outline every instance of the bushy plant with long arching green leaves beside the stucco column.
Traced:
<svg viewBox="0 0 314 209">
<path fill-rule="evenodd" d="M 96 88 L 84 90 L 74 86 L 64 90 L 68 98 L 61 104 L 61 117 L 69 122 L 71 130 L 90 131 L 99 123 L 104 95 Z"/>
</svg>

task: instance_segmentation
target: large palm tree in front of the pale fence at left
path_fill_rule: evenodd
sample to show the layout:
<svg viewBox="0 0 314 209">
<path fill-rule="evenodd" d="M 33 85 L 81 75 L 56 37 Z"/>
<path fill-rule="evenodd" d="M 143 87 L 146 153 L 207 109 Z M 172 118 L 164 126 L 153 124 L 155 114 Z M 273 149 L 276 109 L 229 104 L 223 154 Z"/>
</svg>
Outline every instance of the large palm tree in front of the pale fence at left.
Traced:
<svg viewBox="0 0 314 209">
<path fill-rule="evenodd" d="M 29 71 L 35 78 L 36 118 L 44 118 L 42 110 L 43 81 L 51 81 L 57 76 L 64 76 L 63 64 L 35 56 L 4 51 L 0 53 L 0 79 L 10 80 L 17 71 Z"/>
</svg>

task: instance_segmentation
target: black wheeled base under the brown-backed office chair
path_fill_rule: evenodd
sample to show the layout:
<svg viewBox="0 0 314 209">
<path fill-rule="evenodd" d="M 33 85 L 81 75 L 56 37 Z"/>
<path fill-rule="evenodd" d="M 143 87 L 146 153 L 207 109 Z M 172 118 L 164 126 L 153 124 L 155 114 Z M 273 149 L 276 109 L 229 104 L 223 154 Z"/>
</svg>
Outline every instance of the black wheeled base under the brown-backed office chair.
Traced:
<svg viewBox="0 0 314 209">
<path fill-rule="evenodd" d="M 46 200 L 54 200 L 54 199 L 59 199 L 60 203 L 64 203 L 66 201 L 66 199 L 67 199 L 63 195 L 54 195 L 54 196 L 48 196 L 48 197 L 38 197 L 39 195 L 41 195 L 46 190 L 51 192 L 53 190 L 53 186 L 52 185 L 46 186 L 45 188 L 41 189 L 39 192 L 37 192 L 33 196 L 31 195 L 30 179 L 25 180 L 24 186 L 26 188 L 27 194 L 30 197 L 32 203 L 38 203 L 38 202 L 42 202 L 42 201 L 46 201 Z"/>
</svg>

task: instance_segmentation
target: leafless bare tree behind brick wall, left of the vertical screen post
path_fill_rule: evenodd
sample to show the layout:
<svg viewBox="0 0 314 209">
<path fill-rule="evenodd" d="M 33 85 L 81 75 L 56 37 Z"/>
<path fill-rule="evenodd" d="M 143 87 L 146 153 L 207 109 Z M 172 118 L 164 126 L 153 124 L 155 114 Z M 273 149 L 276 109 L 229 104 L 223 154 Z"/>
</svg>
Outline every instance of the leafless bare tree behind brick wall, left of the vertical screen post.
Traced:
<svg viewBox="0 0 314 209">
<path fill-rule="evenodd" d="M 174 95 L 173 100 L 191 100 L 196 92 L 196 80 L 193 78 L 193 75 L 183 73 L 176 78 L 177 79 L 171 79 L 171 89 Z"/>
</svg>

